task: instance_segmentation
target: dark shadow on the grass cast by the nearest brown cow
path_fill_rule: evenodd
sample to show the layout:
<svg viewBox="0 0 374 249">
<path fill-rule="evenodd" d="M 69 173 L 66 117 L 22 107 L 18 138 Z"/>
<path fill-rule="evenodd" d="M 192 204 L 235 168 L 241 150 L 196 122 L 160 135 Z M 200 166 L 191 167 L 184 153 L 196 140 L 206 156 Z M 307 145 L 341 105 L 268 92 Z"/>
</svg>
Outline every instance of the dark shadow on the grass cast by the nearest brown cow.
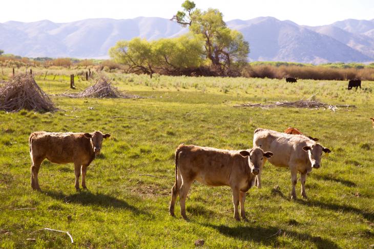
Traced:
<svg viewBox="0 0 374 249">
<path fill-rule="evenodd" d="M 215 230 L 217 230 L 219 233 L 240 239 L 245 241 L 255 241 L 262 243 L 264 245 L 271 245 L 271 246 L 281 246 L 277 244 L 276 236 L 272 236 L 277 234 L 279 231 L 278 228 L 275 227 L 247 227 L 247 226 L 237 226 L 237 227 L 228 227 L 227 225 L 214 225 L 214 224 L 202 224 L 205 227 L 211 227 Z M 317 248 L 340 248 L 335 242 L 321 238 L 319 236 L 311 236 L 310 234 L 306 233 L 297 233 L 294 231 L 282 231 L 280 235 L 282 236 L 285 234 L 286 237 L 292 238 L 293 240 L 302 240 L 302 241 L 310 241 L 311 243 L 314 243 Z M 269 237 L 271 236 L 271 237 Z"/>
</svg>

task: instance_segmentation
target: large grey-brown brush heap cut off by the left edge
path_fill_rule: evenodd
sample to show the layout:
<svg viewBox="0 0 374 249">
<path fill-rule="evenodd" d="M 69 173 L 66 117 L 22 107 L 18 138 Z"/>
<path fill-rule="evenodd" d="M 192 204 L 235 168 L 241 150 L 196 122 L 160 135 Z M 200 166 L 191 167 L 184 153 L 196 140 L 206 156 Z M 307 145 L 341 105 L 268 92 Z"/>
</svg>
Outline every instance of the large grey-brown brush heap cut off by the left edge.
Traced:
<svg viewBox="0 0 374 249">
<path fill-rule="evenodd" d="M 49 96 L 40 89 L 30 74 L 15 75 L 10 81 L 0 84 L 0 110 L 55 111 Z"/>
</svg>

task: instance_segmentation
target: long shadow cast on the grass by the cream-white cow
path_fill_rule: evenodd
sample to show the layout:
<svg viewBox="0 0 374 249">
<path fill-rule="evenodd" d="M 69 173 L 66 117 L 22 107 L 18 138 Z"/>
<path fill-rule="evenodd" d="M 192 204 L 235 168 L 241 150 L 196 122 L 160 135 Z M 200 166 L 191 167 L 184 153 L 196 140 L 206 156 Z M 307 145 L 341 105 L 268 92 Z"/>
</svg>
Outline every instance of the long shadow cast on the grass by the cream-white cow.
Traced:
<svg viewBox="0 0 374 249">
<path fill-rule="evenodd" d="M 356 213 L 358 215 L 362 215 L 365 219 L 369 220 L 370 222 L 374 221 L 374 212 L 373 213 L 368 213 L 365 211 L 362 211 L 361 209 L 346 206 L 346 205 L 339 205 L 335 203 L 324 203 L 318 200 L 302 200 L 302 199 L 297 199 L 296 200 L 298 203 L 308 206 L 308 207 L 319 207 L 323 209 L 328 209 L 328 210 L 334 210 L 334 211 L 342 211 L 344 213 Z"/>
</svg>

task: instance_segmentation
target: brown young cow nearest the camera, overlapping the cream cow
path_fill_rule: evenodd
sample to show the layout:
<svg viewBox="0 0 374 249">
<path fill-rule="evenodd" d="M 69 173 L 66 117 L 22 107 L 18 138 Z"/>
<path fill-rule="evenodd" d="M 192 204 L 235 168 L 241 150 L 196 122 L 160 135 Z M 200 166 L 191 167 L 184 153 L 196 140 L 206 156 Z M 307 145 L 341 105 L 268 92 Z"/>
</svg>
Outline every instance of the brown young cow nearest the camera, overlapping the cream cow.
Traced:
<svg viewBox="0 0 374 249">
<path fill-rule="evenodd" d="M 184 219 L 185 199 L 194 180 L 207 186 L 230 186 L 233 193 L 234 218 L 245 218 L 244 201 L 246 192 L 254 185 L 260 172 L 263 158 L 271 158 L 272 152 L 260 148 L 247 150 L 221 150 L 195 145 L 179 145 L 175 151 L 175 184 L 172 188 L 170 215 L 174 216 L 177 195 L 180 213 Z"/>
</svg>

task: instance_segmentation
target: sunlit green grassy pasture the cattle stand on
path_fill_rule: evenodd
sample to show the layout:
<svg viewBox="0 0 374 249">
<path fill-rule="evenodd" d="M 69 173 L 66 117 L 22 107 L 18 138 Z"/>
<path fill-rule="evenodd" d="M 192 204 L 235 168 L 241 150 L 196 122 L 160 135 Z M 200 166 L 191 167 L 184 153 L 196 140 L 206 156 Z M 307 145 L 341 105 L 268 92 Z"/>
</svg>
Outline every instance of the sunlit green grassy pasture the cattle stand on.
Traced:
<svg viewBox="0 0 374 249">
<path fill-rule="evenodd" d="M 34 72 L 49 94 L 69 89 L 68 75 L 53 80 L 53 75 L 44 79 L 43 71 Z M 121 90 L 146 98 L 54 96 L 61 109 L 55 113 L 0 112 L 1 248 L 193 248 L 198 239 L 206 248 L 373 247 L 374 129 L 369 117 L 374 116 L 374 82 L 364 81 L 365 89 L 348 91 L 347 82 L 339 81 L 109 77 Z M 88 85 L 76 79 L 80 90 Z M 233 107 L 311 96 L 358 108 Z M 247 193 L 249 222 L 234 220 L 230 188 L 198 183 L 186 201 L 190 220 L 181 218 L 179 202 L 176 217 L 169 215 L 174 151 L 180 143 L 246 149 L 252 147 L 256 128 L 282 131 L 288 126 L 319 138 L 333 151 L 307 178 L 307 200 L 290 200 L 289 170 L 267 163 L 262 189 Z M 72 164 L 48 161 L 39 172 L 42 191 L 32 191 L 28 137 L 36 130 L 112 134 L 88 169 L 87 191 L 75 191 Z M 301 197 L 300 183 L 297 194 Z M 35 210 L 15 210 L 20 208 Z M 66 234 L 40 231 L 43 228 L 69 231 L 74 243 Z"/>
</svg>

